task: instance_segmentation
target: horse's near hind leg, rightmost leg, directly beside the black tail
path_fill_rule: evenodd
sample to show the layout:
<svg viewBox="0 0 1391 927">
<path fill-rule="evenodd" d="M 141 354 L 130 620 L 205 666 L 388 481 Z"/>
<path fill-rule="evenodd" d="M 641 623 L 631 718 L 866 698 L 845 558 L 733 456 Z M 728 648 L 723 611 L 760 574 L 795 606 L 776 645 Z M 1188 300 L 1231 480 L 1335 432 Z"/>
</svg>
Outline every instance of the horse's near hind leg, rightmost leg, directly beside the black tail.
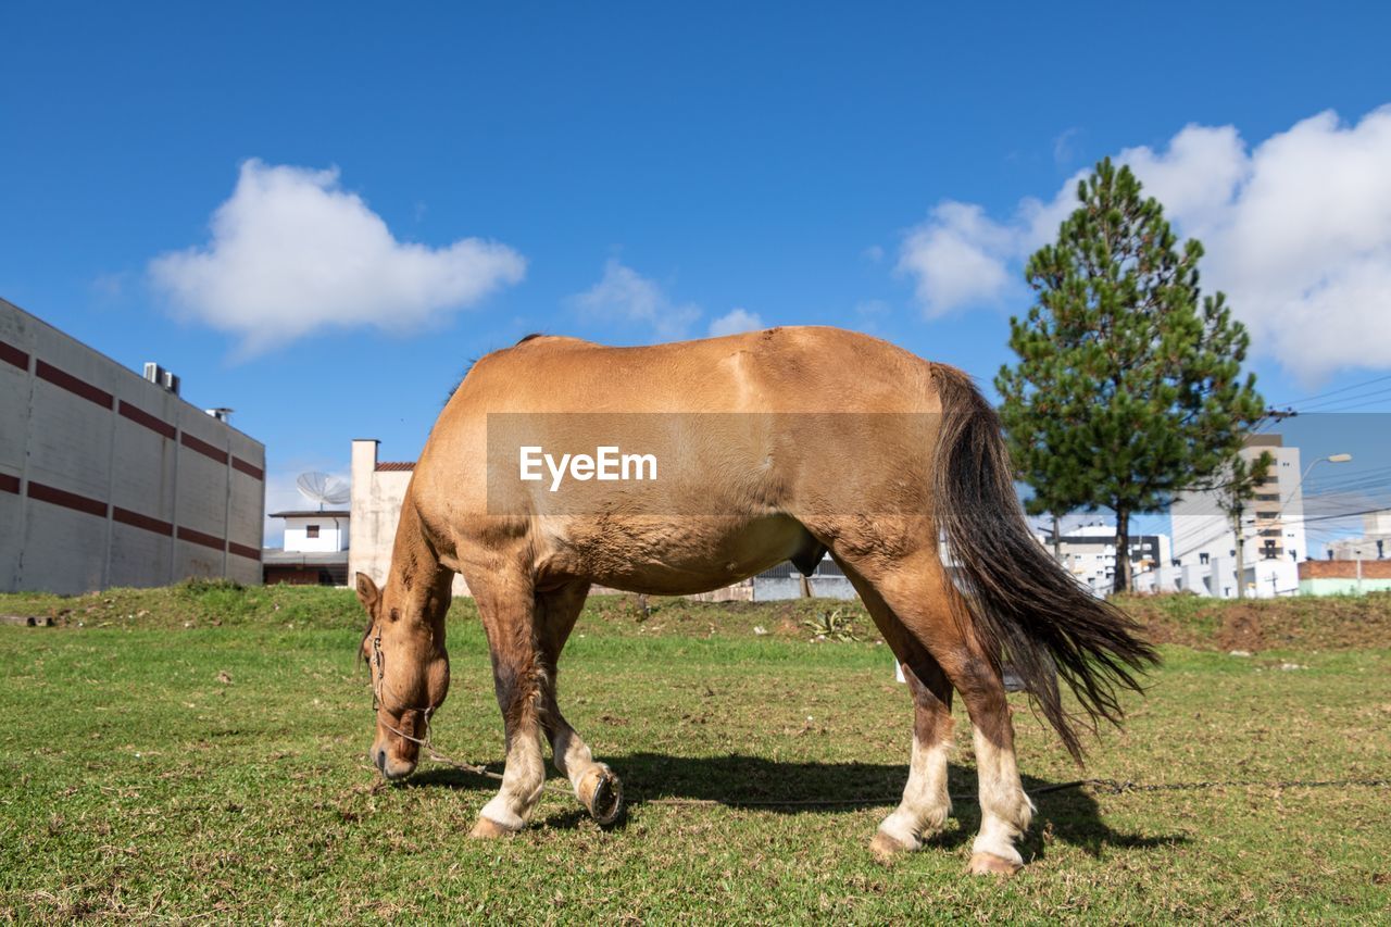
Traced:
<svg viewBox="0 0 1391 927">
<path fill-rule="evenodd" d="M 971 848 L 970 869 L 972 873 L 1014 873 L 1024 864 L 1014 843 L 1028 830 L 1034 805 L 1020 782 L 1014 724 L 999 660 L 990 660 L 970 625 L 963 625 L 953 614 L 956 590 L 935 550 L 904 558 L 879 571 L 871 582 L 893 614 L 936 658 L 971 715 L 981 832 Z"/>
</svg>

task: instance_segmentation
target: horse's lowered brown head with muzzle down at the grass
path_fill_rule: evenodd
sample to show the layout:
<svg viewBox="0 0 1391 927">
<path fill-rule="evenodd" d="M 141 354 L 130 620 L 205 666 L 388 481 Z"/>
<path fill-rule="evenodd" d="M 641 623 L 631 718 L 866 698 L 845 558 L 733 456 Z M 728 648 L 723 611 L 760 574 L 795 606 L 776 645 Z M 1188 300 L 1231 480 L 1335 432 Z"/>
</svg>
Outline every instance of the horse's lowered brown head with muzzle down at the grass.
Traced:
<svg viewBox="0 0 1391 927">
<path fill-rule="evenodd" d="M 449 657 L 444 649 L 444 614 L 435 590 L 410 596 L 395 578 L 387 587 L 357 573 L 357 599 L 367 610 L 362 656 L 371 672 L 377 736 L 367 757 L 388 779 L 410 775 L 420 757 L 430 715 L 449 692 Z"/>
</svg>

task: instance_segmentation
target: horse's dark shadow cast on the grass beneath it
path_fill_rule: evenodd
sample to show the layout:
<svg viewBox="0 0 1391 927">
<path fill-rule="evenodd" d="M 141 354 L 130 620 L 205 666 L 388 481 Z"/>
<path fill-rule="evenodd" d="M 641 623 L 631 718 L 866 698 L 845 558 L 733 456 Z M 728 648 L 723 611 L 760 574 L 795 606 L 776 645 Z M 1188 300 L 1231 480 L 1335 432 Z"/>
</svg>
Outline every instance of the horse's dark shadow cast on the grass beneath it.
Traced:
<svg viewBox="0 0 1391 927">
<path fill-rule="evenodd" d="M 714 802 L 775 814 L 887 807 L 897 803 L 907 775 L 901 763 L 801 763 L 737 753 L 709 757 L 630 753 L 605 757 L 605 761 L 623 779 L 626 802 L 636 809 L 670 800 Z M 1022 779 L 1024 791 L 1038 806 L 1034 824 L 1020 843 L 1025 859 L 1043 857 L 1053 841 L 1078 846 L 1092 856 L 1099 856 L 1103 848 L 1146 849 L 1188 842 L 1181 834 L 1116 831 L 1102 820 L 1100 806 L 1085 789 L 1046 792 L 1057 784 L 1031 775 Z M 563 779 L 551 781 L 563 784 Z M 491 791 L 497 785 L 462 770 L 440 767 L 413 775 L 409 784 L 480 791 Z M 960 825 L 949 824 L 928 845 L 950 849 L 970 842 L 981 827 L 975 770 L 950 764 L 947 788 L 953 796 L 951 814 Z M 555 809 L 541 820 L 547 827 L 570 830 L 584 825 L 588 816 L 573 806 Z M 615 827 L 623 827 L 625 821 Z"/>
</svg>

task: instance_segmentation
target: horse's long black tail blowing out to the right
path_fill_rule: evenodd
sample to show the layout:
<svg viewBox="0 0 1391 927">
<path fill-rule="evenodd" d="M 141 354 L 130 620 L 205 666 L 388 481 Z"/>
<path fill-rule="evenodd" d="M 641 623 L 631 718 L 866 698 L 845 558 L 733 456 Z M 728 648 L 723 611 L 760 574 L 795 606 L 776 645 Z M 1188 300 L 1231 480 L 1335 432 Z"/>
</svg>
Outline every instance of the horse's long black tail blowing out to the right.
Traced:
<svg viewBox="0 0 1391 927">
<path fill-rule="evenodd" d="M 1078 722 L 1093 732 L 1102 718 L 1118 724 L 1117 686 L 1139 690 L 1132 672 L 1159 663 L 1159 654 L 1138 636 L 1139 625 L 1082 589 L 1034 539 L 995 409 L 967 374 L 940 365 L 935 372 L 938 528 L 956 566 L 958 614 L 992 660 L 1013 664 L 1081 761 Z M 1057 676 L 1085 717 L 1063 707 Z"/>
</svg>

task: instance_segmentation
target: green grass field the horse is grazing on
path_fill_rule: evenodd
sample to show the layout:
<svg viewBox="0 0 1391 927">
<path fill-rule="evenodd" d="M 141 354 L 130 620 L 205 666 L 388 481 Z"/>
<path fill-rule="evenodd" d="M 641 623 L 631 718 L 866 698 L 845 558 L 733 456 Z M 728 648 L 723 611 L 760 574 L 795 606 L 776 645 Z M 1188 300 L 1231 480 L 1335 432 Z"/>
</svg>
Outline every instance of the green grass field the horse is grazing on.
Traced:
<svg viewBox="0 0 1391 927">
<path fill-rule="evenodd" d="M 892 800 L 903 786 L 911 711 L 886 647 L 853 607 L 861 642 L 814 643 L 801 624 L 835 607 L 662 601 L 644 615 L 597 600 L 566 651 L 562 706 L 623 777 L 626 823 L 601 831 L 573 798 L 548 792 L 520 837 L 473 842 L 492 782 L 426 763 L 381 786 L 364 759 L 370 695 L 349 593 L 0 596 L 0 614 L 61 625 L 0 626 L 0 917 L 1391 919 L 1385 788 L 1042 795 L 1028 866 L 1006 882 L 964 876 L 970 799 L 943 835 L 887 866 L 868 852 L 886 802 L 737 806 Z M 1263 632 L 1285 643 L 1237 657 L 1217 642 L 1216 605 L 1174 608 L 1173 626 L 1148 619 L 1160 639 L 1189 643 L 1164 644 L 1148 697 L 1129 702 L 1124 732 L 1093 745 L 1086 775 L 1391 772 L 1385 643 L 1330 625 L 1320 644 L 1301 612 L 1289 621 L 1303 637 Z M 451 615 L 453 686 L 435 740 L 495 761 L 501 720 L 470 610 Z M 1025 788 L 1079 778 L 1018 706 Z M 957 717 L 951 791 L 970 795 L 970 728 Z M 722 805 L 664 803 L 673 798 Z"/>
</svg>

